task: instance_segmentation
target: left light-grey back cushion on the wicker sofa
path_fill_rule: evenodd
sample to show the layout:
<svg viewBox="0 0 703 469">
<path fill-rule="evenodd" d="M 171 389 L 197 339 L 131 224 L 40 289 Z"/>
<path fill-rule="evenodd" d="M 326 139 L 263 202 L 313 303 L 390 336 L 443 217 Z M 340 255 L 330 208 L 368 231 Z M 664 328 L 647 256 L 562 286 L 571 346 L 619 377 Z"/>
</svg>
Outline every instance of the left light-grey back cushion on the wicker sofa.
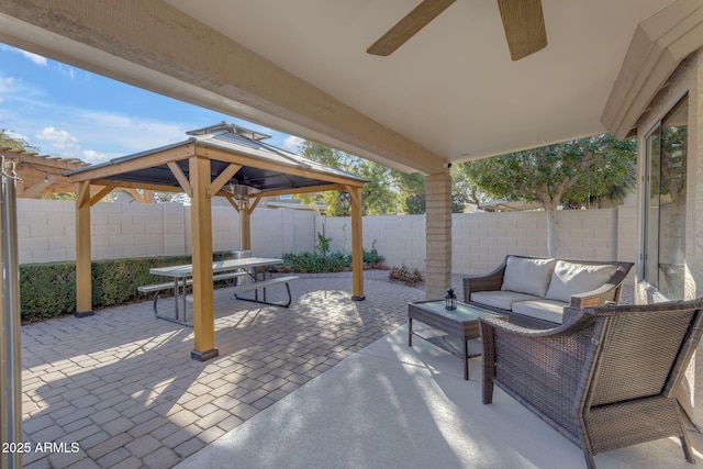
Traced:
<svg viewBox="0 0 703 469">
<path fill-rule="evenodd" d="M 529 259 L 510 256 L 501 290 L 544 298 L 557 259 Z"/>
</svg>

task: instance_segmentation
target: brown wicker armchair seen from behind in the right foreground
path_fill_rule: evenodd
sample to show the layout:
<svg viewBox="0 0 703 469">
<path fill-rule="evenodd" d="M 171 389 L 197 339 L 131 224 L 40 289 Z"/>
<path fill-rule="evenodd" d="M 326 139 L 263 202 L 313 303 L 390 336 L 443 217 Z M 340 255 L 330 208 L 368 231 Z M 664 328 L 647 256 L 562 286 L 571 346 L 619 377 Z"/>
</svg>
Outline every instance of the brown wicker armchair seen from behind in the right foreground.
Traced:
<svg viewBox="0 0 703 469">
<path fill-rule="evenodd" d="M 703 332 L 703 299 L 585 309 L 551 330 L 481 319 L 493 384 L 593 455 L 669 436 L 694 462 L 676 391 Z"/>
</svg>

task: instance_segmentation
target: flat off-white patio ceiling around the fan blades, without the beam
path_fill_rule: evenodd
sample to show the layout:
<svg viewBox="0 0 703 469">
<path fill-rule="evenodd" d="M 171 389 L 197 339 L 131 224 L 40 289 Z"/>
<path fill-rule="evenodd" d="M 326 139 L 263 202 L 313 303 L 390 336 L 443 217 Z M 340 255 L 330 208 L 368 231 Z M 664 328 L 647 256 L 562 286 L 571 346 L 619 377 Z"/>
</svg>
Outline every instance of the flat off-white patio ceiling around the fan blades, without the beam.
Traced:
<svg viewBox="0 0 703 469">
<path fill-rule="evenodd" d="M 671 0 L 543 0 L 548 45 L 512 62 L 494 0 L 458 0 L 389 57 L 419 0 L 167 0 L 451 161 L 604 132 L 639 22 Z"/>
</svg>

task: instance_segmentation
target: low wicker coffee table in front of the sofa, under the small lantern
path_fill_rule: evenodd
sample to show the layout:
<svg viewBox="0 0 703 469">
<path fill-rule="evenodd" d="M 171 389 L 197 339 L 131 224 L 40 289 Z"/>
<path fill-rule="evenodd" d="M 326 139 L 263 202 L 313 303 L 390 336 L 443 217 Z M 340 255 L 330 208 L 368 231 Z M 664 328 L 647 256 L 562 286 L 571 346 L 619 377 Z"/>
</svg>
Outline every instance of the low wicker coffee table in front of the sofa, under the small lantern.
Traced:
<svg viewBox="0 0 703 469">
<path fill-rule="evenodd" d="M 499 316 L 480 308 L 457 302 L 456 310 L 446 310 L 442 301 L 417 301 L 408 303 L 408 345 L 413 346 L 413 335 L 429 342 L 437 347 L 464 360 L 464 379 L 469 379 L 469 358 L 478 357 L 483 351 L 479 340 L 479 322 L 481 316 Z M 432 328 L 413 331 L 413 320 Z"/>
</svg>

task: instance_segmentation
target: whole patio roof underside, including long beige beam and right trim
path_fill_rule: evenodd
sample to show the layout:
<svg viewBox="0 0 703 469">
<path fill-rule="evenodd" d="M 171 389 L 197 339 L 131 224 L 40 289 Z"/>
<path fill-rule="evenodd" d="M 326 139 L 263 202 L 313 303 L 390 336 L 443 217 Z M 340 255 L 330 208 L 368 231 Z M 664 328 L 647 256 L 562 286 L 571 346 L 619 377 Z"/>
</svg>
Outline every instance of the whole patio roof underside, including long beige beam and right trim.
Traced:
<svg viewBox="0 0 703 469">
<path fill-rule="evenodd" d="M 427 174 L 606 125 L 626 134 L 666 75 L 627 69 L 654 76 L 641 93 L 616 79 L 662 9 L 631 66 L 668 72 L 703 45 L 700 0 L 543 0 L 548 45 L 513 62 L 496 1 L 457 0 L 389 57 L 367 54 L 419 1 L 4 0 L 0 41 Z M 606 107 L 614 87 L 626 99 Z M 620 109 L 629 118 L 611 121 Z"/>
</svg>

